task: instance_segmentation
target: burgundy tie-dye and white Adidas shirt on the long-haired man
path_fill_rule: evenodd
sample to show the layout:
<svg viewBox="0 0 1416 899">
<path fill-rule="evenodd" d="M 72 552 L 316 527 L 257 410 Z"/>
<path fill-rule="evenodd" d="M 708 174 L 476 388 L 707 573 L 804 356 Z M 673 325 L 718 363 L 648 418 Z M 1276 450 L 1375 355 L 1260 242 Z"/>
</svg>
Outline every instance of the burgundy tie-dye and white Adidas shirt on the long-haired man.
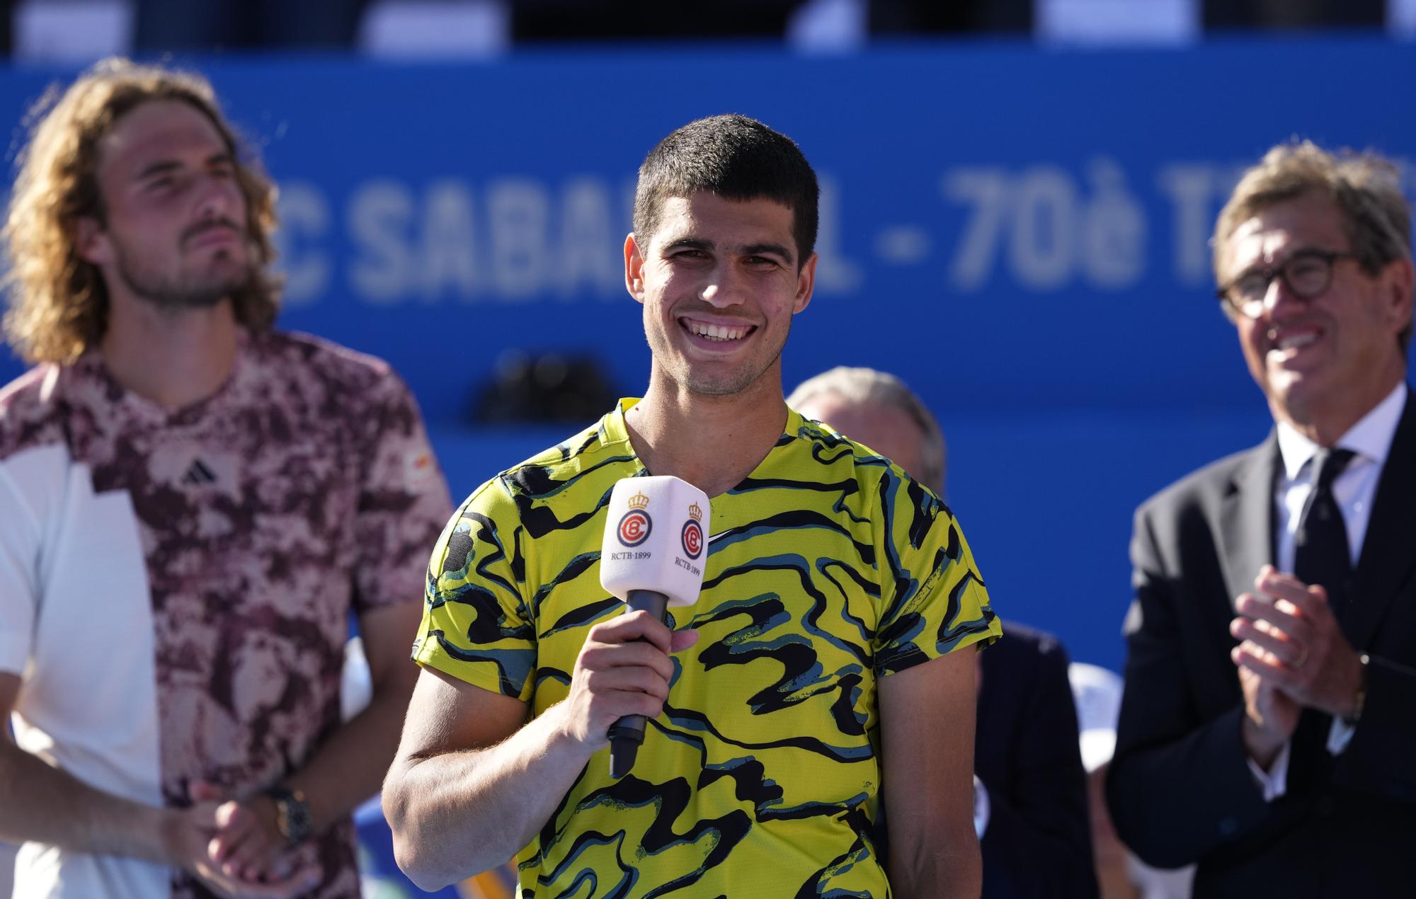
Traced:
<svg viewBox="0 0 1416 899">
<path fill-rule="evenodd" d="M 101 790 L 184 806 L 303 766 L 340 725 L 350 612 L 418 602 L 452 504 L 379 360 L 242 333 L 170 412 L 91 353 L 0 391 L 0 671 L 23 748 Z M 358 896 L 353 821 L 302 845 Z M 28 844 L 25 895 L 198 896 L 181 871 Z"/>
</svg>

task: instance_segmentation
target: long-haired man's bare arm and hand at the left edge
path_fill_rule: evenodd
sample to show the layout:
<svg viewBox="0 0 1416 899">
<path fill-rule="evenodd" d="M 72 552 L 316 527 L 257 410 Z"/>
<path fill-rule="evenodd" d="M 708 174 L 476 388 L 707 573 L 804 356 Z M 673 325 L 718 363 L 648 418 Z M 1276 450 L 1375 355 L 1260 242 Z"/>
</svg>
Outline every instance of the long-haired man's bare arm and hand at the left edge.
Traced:
<svg viewBox="0 0 1416 899">
<path fill-rule="evenodd" d="M 8 719 L 18 695 L 18 675 L 0 674 L 0 719 Z M 215 830 L 215 803 L 154 808 L 119 798 L 45 765 L 0 728 L 0 838 L 185 868 L 228 896 L 295 896 L 319 882 L 316 869 L 259 885 L 225 876 L 207 857 Z"/>
</svg>

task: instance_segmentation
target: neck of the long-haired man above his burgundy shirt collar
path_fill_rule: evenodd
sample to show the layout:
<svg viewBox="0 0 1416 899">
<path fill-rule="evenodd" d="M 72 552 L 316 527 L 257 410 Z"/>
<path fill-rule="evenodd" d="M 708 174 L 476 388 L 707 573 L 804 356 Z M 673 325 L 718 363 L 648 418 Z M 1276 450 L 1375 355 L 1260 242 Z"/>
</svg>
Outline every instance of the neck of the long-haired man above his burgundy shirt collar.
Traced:
<svg viewBox="0 0 1416 899">
<path fill-rule="evenodd" d="M 235 368 L 236 347 L 231 300 L 169 310 L 112 296 L 101 351 L 125 388 L 166 409 L 181 409 L 221 389 Z"/>
</svg>

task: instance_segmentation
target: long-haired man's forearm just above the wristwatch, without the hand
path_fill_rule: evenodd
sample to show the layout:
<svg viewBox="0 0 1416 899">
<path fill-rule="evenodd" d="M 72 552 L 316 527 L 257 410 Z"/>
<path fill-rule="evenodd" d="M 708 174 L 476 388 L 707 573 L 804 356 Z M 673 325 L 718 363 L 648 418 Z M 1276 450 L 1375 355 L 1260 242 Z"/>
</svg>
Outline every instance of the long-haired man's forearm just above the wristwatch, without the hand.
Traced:
<svg viewBox="0 0 1416 899">
<path fill-rule="evenodd" d="M 398 749 L 412 685 L 377 691 L 368 706 L 334 731 L 286 784 L 304 794 L 316 831 L 378 793 Z"/>
</svg>

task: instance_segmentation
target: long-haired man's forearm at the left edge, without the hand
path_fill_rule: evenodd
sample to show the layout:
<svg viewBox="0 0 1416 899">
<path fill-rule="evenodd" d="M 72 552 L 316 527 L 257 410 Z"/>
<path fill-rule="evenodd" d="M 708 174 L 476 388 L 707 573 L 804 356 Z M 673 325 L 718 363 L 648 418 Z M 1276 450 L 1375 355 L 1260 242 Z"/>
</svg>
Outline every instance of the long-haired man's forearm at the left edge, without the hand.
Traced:
<svg viewBox="0 0 1416 899">
<path fill-rule="evenodd" d="M 163 808 L 96 790 L 0 738 L 0 840 L 171 864 Z"/>
</svg>

